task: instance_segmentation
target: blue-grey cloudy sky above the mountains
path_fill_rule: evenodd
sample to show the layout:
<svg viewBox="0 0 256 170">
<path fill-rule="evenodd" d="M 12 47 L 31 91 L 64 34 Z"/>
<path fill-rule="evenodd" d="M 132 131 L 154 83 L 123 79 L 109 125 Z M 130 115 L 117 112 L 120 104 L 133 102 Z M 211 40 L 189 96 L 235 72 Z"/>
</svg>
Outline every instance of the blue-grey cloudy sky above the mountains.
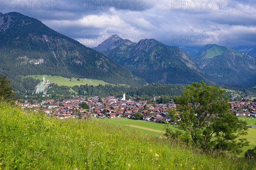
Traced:
<svg viewBox="0 0 256 170">
<path fill-rule="evenodd" d="M 256 44 L 255 0 L 0 0 L 88 47 L 112 34 L 138 42 L 228 47 Z"/>
</svg>

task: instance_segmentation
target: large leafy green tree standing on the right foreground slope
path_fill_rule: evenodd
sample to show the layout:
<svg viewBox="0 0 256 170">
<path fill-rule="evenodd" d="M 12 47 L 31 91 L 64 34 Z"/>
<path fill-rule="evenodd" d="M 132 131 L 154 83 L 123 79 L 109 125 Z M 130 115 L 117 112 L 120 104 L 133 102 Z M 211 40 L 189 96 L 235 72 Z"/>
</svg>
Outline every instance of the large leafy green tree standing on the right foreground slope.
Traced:
<svg viewBox="0 0 256 170">
<path fill-rule="evenodd" d="M 248 145 L 245 121 L 230 113 L 228 98 L 223 98 L 225 91 L 206 83 L 188 85 L 180 97 L 176 97 L 177 112 L 170 111 L 170 116 L 178 124 L 177 128 L 190 136 L 196 146 L 207 150 L 229 150 L 240 153 Z M 172 136 L 172 133 L 170 133 Z M 238 139 L 239 138 L 239 139 Z"/>
</svg>

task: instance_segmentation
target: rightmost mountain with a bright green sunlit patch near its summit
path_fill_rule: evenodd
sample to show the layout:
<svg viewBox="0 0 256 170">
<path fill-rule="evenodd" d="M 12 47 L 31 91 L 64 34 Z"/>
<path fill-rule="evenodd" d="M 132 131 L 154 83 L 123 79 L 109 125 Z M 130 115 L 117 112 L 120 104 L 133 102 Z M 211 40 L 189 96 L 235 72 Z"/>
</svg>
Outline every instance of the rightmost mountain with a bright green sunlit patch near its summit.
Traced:
<svg viewBox="0 0 256 170">
<path fill-rule="evenodd" d="M 256 83 L 256 61 L 247 54 L 220 45 L 206 45 L 194 57 L 204 77 L 218 84 Z"/>
</svg>

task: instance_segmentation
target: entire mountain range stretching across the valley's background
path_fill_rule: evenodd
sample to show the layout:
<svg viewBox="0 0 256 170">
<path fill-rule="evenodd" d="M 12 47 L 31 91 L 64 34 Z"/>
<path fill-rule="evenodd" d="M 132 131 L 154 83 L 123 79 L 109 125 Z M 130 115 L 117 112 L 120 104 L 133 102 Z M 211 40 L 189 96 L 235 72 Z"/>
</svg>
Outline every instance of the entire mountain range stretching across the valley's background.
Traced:
<svg viewBox="0 0 256 170">
<path fill-rule="evenodd" d="M 0 37 L 0 74 L 7 74 L 15 89 L 22 88 L 21 76 L 43 74 L 127 85 L 256 83 L 255 46 L 237 51 L 219 45 L 178 48 L 112 35 L 92 49 L 17 12 L 0 13 Z"/>
</svg>

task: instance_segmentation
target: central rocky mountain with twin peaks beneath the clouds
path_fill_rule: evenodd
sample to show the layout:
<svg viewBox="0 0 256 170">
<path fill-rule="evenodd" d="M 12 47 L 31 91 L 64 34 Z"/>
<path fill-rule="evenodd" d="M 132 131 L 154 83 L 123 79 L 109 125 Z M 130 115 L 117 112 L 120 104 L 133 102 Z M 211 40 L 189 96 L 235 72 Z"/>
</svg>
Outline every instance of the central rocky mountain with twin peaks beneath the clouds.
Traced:
<svg viewBox="0 0 256 170">
<path fill-rule="evenodd" d="M 140 40 L 136 44 L 112 35 L 94 49 L 148 83 L 189 84 L 208 81 L 201 76 L 191 57 L 180 48 L 169 47 L 154 39 Z"/>
</svg>

